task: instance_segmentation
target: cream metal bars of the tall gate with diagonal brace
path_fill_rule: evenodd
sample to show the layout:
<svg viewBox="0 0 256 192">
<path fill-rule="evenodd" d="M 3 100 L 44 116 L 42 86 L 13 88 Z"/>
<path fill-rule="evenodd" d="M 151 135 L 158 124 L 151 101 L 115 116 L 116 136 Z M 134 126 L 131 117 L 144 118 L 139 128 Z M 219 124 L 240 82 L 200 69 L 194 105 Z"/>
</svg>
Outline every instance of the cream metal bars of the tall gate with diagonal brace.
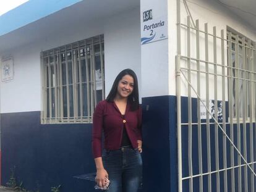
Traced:
<svg viewBox="0 0 256 192">
<path fill-rule="evenodd" d="M 179 7 L 179 6 L 178 6 Z M 179 16 L 179 15 L 178 15 Z M 178 18 L 178 21 L 179 21 L 179 18 Z M 187 30 L 187 33 L 190 33 L 190 30 L 192 29 L 190 27 L 190 22 L 187 21 L 187 25 L 183 25 L 183 26 L 186 26 L 186 30 Z M 207 26 L 207 24 L 205 24 L 205 26 Z M 197 27 L 195 27 L 195 30 L 196 30 L 196 34 L 198 34 L 198 32 L 200 32 L 200 30 L 197 30 Z M 200 178 L 202 177 L 202 175 L 208 175 L 210 177 L 210 175 L 212 173 L 216 173 L 216 178 L 217 178 L 217 182 L 216 182 L 216 188 L 217 188 L 217 191 L 220 190 L 220 172 L 224 172 L 224 191 L 234 191 L 235 190 L 235 186 L 237 187 L 237 191 L 247 191 L 248 189 L 248 185 L 250 185 L 250 189 L 251 190 L 254 190 L 254 179 L 255 178 L 255 172 L 254 172 L 254 169 L 253 169 L 253 166 L 254 166 L 254 157 L 252 156 L 253 154 L 253 148 L 254 148 L 254 138 L 253 138 L 253 134 L 250 134 L 250 160 L 247 159 L 247 140 L 249 140 L 249 138 L 247 138 L 246 136 L 246 130 L 247 130 L 247 125 L 248 125 L 248 122 L 247 122 L 247 119 L 249 119 L 249 127 L 250 127 L 250 133 L 253 133 L 253 125 L 255 122 L 253 122 L 255 120 L 255 118 L 253 119 L 252 118 L 252 115 L 254 114 L 255 115 L 255 103 L 254 103 L 254 99 L 253 96 L 250 94 L 252 92 L 250 92 L 250 87 L 252 87 L 252 85 L 254 85 L 254 95 L 256 94 L 255 93 L 255 86 L 256 86 L 256 83 L 255 83 L 255 80 L 256 80 L 256 73 L 255 73 L 255 60 L 253 61 L 254 64 L 252 64 L 252 67 L 246 67 L 246 65 L 249 65 L 249 61 L 247 61 L 246 58 L 249 57 L 250 59 L 250 56 L 247 56 L 247 51 L 249 50 L 250 52 L 253 52 L 253 55 L 255 55 L 255 44 L 254 44 L 254 47 L 251 46 L 251 43 L 250 43 L 250 40 L 245 40 L 245 38 L 242 38 L 242 43 L 239 41 L 239 36 L 237 35 L 236 36 L 236 41 L 233 41 L 231 39 L 231 37 L 233 35 L 231 35 L 230 32 L 227 33 L 227 36 L 228 36 L 228 39 L 224 39 L 224 31 L 221 30 L 221 38 L 216 36 L 216 28 L 213 30 L 213 51 L 214 51 L 214 61 L 213 62 L 209 62 L 208 61 L 208 31 L 207 31 L 207 27 L 205 27 L 205 31 L 203 31 L 202 33 L 205 33 L 205 61 L 202 61 L 199 59 L 199 54 L 198 54 L 198 51 L 199 49 L 197 48 L 197 58 L 192 58 L 190 57 L 190 35 L 187 34 L 187 56 L 181 56 L 181 41 L 180 41 L 180 37 L 181 37 L 181 23 L 177 23 L 177 41 L 178 41 L 178 44 L 177 44 L 177 56 L 176 56 L 176 79 L 177 79 L 177 137 L 178 137 L 178 159 L 179 159 L 179 191 L 182 191 L 182 180 L 186 180 L 186 179 L 189 179 L 189 182 L 192 182 L 192 179 L 194 177 L 199 177 L 199 181 L 200 181 Z M 198 35 L 196 35 L 198 36 Z M 241 39 L 241 38 L 240 38 Z M 218 64 L 217 63 L 217 54 L 216 54 L 216 40 L 221 40 L 221 64 Z M 249 44 L 247 43 L 249 41 Z M 224 61 L 224 42 L 227 42 L 228 43 L 228 65 L 225 65 L 225 61 Z M 234 59 L 234 66 L 232 64 L 232 61 L 231 61 L 231 58 L 232 58 L 232 53 L 233 51 L 231 50 L 231 46 L 232 46 L 232 43 L 235 44 L 235 51 L 234 51 L 234 56 L 235 56 L 235 59 Z M 239 53 L 239 46 L 242 47 L 242 53 Z M 249 54 L 248 54 L 249 55 Z M 242 67 L 241 67 L 241 64 L 239 63 L 239 57 L 242 57 L 243 58 L 243 61 L 242 61 Z M 255 57 L 255 56 L 254 56 Z M 187 69 L 186 67 L 181 67 L 181 59 L 185 59 L 185 61 L 187 61 Z M 192 62 L 191 61 L 196 61 L 196 65 L 197 65 L 197 70 L 192 70 L 191 69 L 191 64 Z M 205 64 L 205 72 L 203 72 L 202 70 L 200 70 L 200 65 L 198 66 L 198 63 L 200 64 L 200 62 L 202 62 L 203 64 Z M 210 73 L 209 72 L 209 69 L 208 69 L 208 65 L 213 65 L 214 67 L 214 72 L 213 73 Z M 221 69 L 222 69 L 222 73 L 221 74 L 218 74 L 218 66 L 221 66 Z M 227 70 L 226 70 L 227 69 Z M 184 72 L 182 71 L 185 71 L 187 72 L 187 78 L 186 78 L 186 75 L 184 75 Z M 191 72 L 195 72 L 197 73 L 197 91 L 195 90 L 195 88 L 192 86 L 192 84 L 190 83 L 190 79 L 191 79 Z M 228 72 L 228 74 L 226 74 L 226 72 Z M 202 99 L 200 98 L 200 83 L 198 83 L 198 78 L 200 78 L 200 75 L 198 75 L 198 73 L 205 73 L 206 74 L 206 81 L 207 81 L 207 85 L 208 85 L 208 80 L 209 80 L 209 75 L 212 74 L 214 75 L 214 81 L 215 81 L 215 90 L 217 90 L 216 88 L 216 84 L 217 84 L 217 80 L 220 80 L 218 79 L 217 77 L 221 77 L 221 81 L 222 81 L 222 89 L 219 89 L 220 91 L 222 91 L 222 104 L 223 104 L 223 120 L 222 120 L 222 123 L 218 122 L 218 114 L 216 114 L 216 110 L 215 110 L 215 115 L 213 116 L 212 114 L 210 114 L 210 111 L 208 109 L 208 106 L 207 104 L 204 104 L 202 102 L 202 104 L 204 105 L 204 107 L 207 109 L 207 114 L 211 115 L 211 118 L 215 121 L 215 126 L 217 128 L 217 130 L 215 129 L 215 144 L 218 141 L 218 130 L 221 130 L 223 132 L 223 169 L 220 169 L 220 165 L 218 165 L 219 163 L 219 158 L 218 158 L 218 155 L 220 154 L 220 152 L 218 151 L 218 143 L 215 145 L 215 158 L 216 158 L 216 170 L 213 170 L 209 172 L 209 166 L 208 166 L 208 173 L 200 173 L 198 175 L 193 175 L 192 173 L 192 166 L 193 166 L 193 163 L 191 162 L 192 160 L 189 158 L 189 177 L 183 177 L 182 178 L 182 167 L 181 167 L 181 159 L 182 159 L 182 152 L 180 151 L 181 150 L 181 125 L 188 125 L 188 128 L 189 128 L 189 140 L 188 142 L 189 143 L 192 143 L 192 138 L 190 138 L 190 127 L 192 126 L 192 124 L 195 124 L 195 125 L 198 125 L 198 127 L 201 126 L 201 120 L 200 122 L 198 121 L 197 123 L 192 123 L 191 120 L 190 120 L 190 109 L 188 109 L 188 119 L 189 119 L 189 122 L 188 123 L 181 123 L 181 107 L 179 106 L 181 104 L 181 91 L 180 91 L 180 86 L 181 86 L 181 73 L 182 73 L 182 77 L 184 77 L 187 81 L 187 91 L 188 91 L 188 107 L 191 105 L 190 104 L 190 88 L 192 88 L 195 92 L 195 94 L 197 95 L 197 99 L 202 102 Z M 229 122 L 226 122 L 226 108 L 225 108 L 225 102 L 226 102 L 226 99 L 225 99 L 225 87 L 226 87 L 226 80 L 227 80 L 227 83 L 228 83 L 228 99 L 229 99 Z M 199 86 L 198 86 L 199 85 Z M 239 88 L 240 86 L 243 87 L 243 94 L 239 95 Z M 233 96 L 233 87 L 236 89 L 236 93 L 235 93 L 235 106 L 233 106 L 232 104 L 232 96 Z M 206 96 L 208 95 L 208 90 L 206 89 Z M 208 97 L 208 96 L 207 96 Z M 215 91 L 215 104 L 217 104 L 218 102 L 218 99 L 217 99 L 217 94 L 216 94 L 216 91 Z M 240 107 L 240 104 L 239 103 L 243 103 L 242 105 L 242 111 L 241 109 L 239 108 Z M 254 107 L 252 107 L 254 106 Z M 218 109 L 217 108 L 218 105 L 215 105 L 215 109 Z M 249 107 L 249 109 L 248 109 Z M 233 108 L 235 108 L 235 122 L 233 122 Z M 197 111 L 198 112 L 198 111 Z M 242 113 L 242 114 L 240 114 Z M 249 118 L 248 115 L 250 116 Z M 242 115 L 242 118 L 241 118 L 241 115 Z M 230 138 L 229 136 L 226 134 L 226 123 L 228 123 L 230 125 Z M 241 124 L 242 123 L 242 124 Z M 210 122 L 206 122 L 207 127 L 209 126 L 210 127 Z M 221 124 L 222 124 L 222 127 L 221 127 Z M 237 143 L 234 144 L 235 140 L 234 140 L 234 128 L 236 125 L 236 141 Z M 210 129 L 210 128 L 209 128 Z M 200 130 L 198 129 L 198 132 Z M 242 132 L 241 132 L 242 131 Z M 208 135 L 209 134 L 209 135 Z M 200 133 L 198 133 L 198 136 L 200 135 Z M 241 136 L 243 141 L 241 141 Z M 229 141 L 229 144 L 230 144 L 230 151 L 231 151 L 231 154 L 230 154 L 230 159 L 231 159 L 231 165 L 228 167 L 227 166 L 227 157 L 226 157 L 226 141 Z M 198 138 L 198 142 L 200 138 Z M 210 141 L 210 131 L 207 133 L 207 142 Z M 242 142 L 242 143 L 241 143 Z M 189 144 L 188 143 L 188 144 Z M 210 143 L 210 142 L 209 142 Z M 242 149 L 243 149 L 243 154 L 241 154 L 241 146 L 242 146 Z M 235 151 L 234 151 L 235 149 Z M 190 148 L 188 149 L 188 156 L 191 156 L 191 150 Z M 200 146 L 199 146 L 199 143 L 198 143 L 198 157 L 199 157 L 199 160 L 198 160 L 198 165 L 200 166 Z M 237 164 L 234 165 L 234 154 L 236 154 L 236 159 L 237 159 Z M 201 154 L 202 155 L 202 154 Z M 209 157 L 209 155 L 207 155 L 207 157 Z M 250 162 L 247 162 L 247 161 L 250 161 Z M 208 165 L 210 164 L 210 162 L 208 161 Z M 248 177 L 247 177 L 247 170 L 250 170 L 250 175 L 251 175 L 251 178 L 250 178 L 250 181 L 248 180 Z M 231 186 L 230 188 L 231 189 L 228 189 L 228 185 L 227 185 L 227 175 L 228 175 L 228 170 L 231 170 Z M 235 172 L 234 170 L 237 170 L 237 172 Z M 244 173 L 244 178 L 242 178 L 242 171 Z M 192 173 L 192 175 L 191 175 Z M 208 191 L 211 190 L 211 186 L 209 188 L 209 185 L 211 185 L 211 180 L 209 180 L 209 177 L 208 177 Z M 237 177 L 237 178 L 236 178 Z M 235 179 L 236 178 L 236 179 Z M 244 183 L 245 182 L 245 185 L 244 185 L 244 188 L 242 188 L 242 182 Z M 238 183 L 238 185 L 236 185 L 236 183 Z M 250 183 L 250 184 L 249 184 Z M 200 184 L 199 184 L 200 185 Z M 190 184 L 189 185 L 189 191 L 192 191 L 193 189 L 193 183 L 192 185 Z M 202 187 L 202 185 L 200 185 L 200 187 Z"/>
</svg>

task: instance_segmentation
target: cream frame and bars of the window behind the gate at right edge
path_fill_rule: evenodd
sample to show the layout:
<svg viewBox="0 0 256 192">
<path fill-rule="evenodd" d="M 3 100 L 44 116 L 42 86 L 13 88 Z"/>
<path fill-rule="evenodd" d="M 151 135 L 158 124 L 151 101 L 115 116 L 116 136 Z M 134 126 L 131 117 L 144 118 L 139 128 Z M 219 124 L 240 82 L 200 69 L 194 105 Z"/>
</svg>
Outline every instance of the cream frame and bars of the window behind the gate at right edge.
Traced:
<svg viewBox="0 0 256 192">
<path fill-rule="evenodd" d="M 255 97 L 256 96 L 256 66 L 255 66 L 255 42 L 250 40 L 249 38 L 247 38 L 246 36 L 242 35 L 241 33 L 238 33 L 237 31 L 228 28 L 227 30 L 227 56 L 228 56 L 228 67 L 230 70 L 228 70 L 228 76 L 232 78 L 232 91 L 231 93 L 233 93 L 233 95 L 228 98 L 232 98 L 233 102 L 233 111 L 229 112 L 229 118 L 230 115 L 232 114 L 232 118 L 233 121 L 236 122 L 239 120 L 239 122 L 243 122 L 243 119 L 245 118 L 245 122 L 250 122 L 250 117 L 252 117 L 252 121 L 255 122 L 255 104 L 256 102 L 254 101 L 254 99 L 252 99 L 252 103 L 250 103 L 250 97 Z M 234 45 L 234 47 L 233 47 Z M 234 48 L 234 50 L 233 50 Z M 238 48 L 238 50 L 236 51 L 236 49 Z M 241 52 L 239 51 L 239 49 L 241 49 Z M 234 58 L 233 58 L 234 56 Z M 229 60 L 231 60 L 231 62 L 229 62 Z M 234 60 L 234 61 L 233 61 Z M 236 61 L 237 60 L 237 61 Z M 241 60 L 241 66 L 240 66 L 240 60 Z M 237 66 L 238 65 L 238 66 Z M 250 66 L 249 66 L 250 65 Z M 238 68 L 237 68 L 238 67 Z M 232 71 L 232 75 L 231 75 L 231 70 Z M 242 72 L 242 75 L 240 74 Z M 239 73 L 239 74 L 237 74 Z M 244 74 L 243 74 L 244 73 Z M 242 77 L 241 77 L 242 76 Z M 236 107 L 234 107 L 234 103 L 236 104 L 236 97 L 237 97 L 237 93 L 235 93 L 236 95 L 234 96 L 234 91 L 236 92 L 237 87 L 237 81 L 239 81 L 239 83 L 242 82 L 246 82 L 244 83 L 245 85 L 245 90 L 242 91 L 242 96 L 244 99 L 241 101 L 242 105 L 245 104 L 245 109 L 240 109 L 241 108 L 241 104 L 239 104 L 239 111 L 241 112 L 241 110 L 245 110 L 245 115 L 244 117 L 241 116 L 240 112 L 239 112 L 239 118 L 237 118 L 236 115 Z M 238 83 L 238 86 L 239 86 Z M 253 83 L 253 85 L 250 87 L 250 83 Z M 234 88 L 235 86 L 235 88 Z M 244 88 L 244 87 L 243 87 Z M 230 89 L 230 87 L 229 87 Z M 249 91 L 249 89 L 251 89 Z M 239 90 L 240 91 L 240 90 Z M 249 95 L 249 92 L 252 95 Z M 228 91 L 228 93 L 230 93 L 230 91 Z M 240 96 L 240 95 L 239 95 Z M 240 97 L 238 96 L 239 100 Z M 230 102 L 230 101 L 229 101 Z M 250 110 L 250 106 L 252 106 L 252 110 Z M 252 114 L 250 114 L 249 110 L 252 112 Z"/>
</svg>

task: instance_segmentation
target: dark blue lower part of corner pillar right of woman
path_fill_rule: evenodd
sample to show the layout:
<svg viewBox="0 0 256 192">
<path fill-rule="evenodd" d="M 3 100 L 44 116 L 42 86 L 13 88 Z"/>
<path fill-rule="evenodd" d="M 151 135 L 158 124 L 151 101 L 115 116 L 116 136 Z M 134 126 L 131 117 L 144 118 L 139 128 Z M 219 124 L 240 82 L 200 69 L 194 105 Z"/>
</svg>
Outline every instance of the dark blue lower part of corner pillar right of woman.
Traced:
<svg viewBox="0 0 256 192">
<path fill-rule="evenodd" d="M 143 191 L 177 191 L 176 97 L 142 99 Z"/>
</svg>

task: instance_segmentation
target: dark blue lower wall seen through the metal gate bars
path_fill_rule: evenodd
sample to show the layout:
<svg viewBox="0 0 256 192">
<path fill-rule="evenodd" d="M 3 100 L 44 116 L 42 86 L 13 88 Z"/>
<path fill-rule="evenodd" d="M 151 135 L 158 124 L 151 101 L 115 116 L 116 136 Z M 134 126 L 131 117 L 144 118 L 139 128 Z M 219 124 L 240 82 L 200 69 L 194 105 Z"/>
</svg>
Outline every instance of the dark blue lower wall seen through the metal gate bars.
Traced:
<svg viewBox="0 0 256 192">
<path fill-rule="evenodd" d="M 188 108 L 187 108 L 187 97 L 181 98 L 181 110 L 182 110 L 182 123 L 187 123 L 188 121 Z M 221 101 L 218 101 L 218 106 L 220 106 Z M 228 111 L 228 102 L 225 103 L 226 105 L 226 122 L 228 122 L 229 117 L 229 111 Z M 192 122 L 197 123 L 197 99 L 192 98 Z M 201 122 L 206 122 L 205 120 L 201 120 Z M 213 119 L 210 120 L 210 122 L 213 122 Z M 218 122 L 222 122 L 220 118 L 218 118 Z M 207 151 L 210 150 L 211 154 L 211 171 L 214 172 L 216 170 L 216 161 L 219 161 L 219 169 L 224 168 L 223 164 L 223 132 L 218 128 L 218 149 L 219 149 L 219 159 L 217 160 L 215 158 L 215 125 L 210 125 L 210 149 L 207 148 L 207 126 L 202 125 L 201 127 L 202 131 L 202 168 L 203 173 L 208 172 L 207 167 Z M 226 124 L 226 133 L 228 136 L 230 136 L 231 127 L 229 123 Z M 253 131 L 254 131 L 254 142 L 255 141 L 255 123 L 253 124 Z M 241 140 L 241 153 L 244 154 L 244 125 L 240 123 L 240 140 Z M 234 133 L 234 144 L 237 147 L 237 124 L 234 123 L 233 125 L 233 133 Z M 247 140 L 247 162 L 250 162 L 250 126 L 249 123 L 246 123 L 245 128 L 245 134 L 246 134 L 246 140 Z M 188 126 L 182 125 L 182 177 L 188 177 L 189 176 L 189 159 L 188 159 L 188 149 L 189 149 L 189 143 L 188 143 Z M 255 146 L 256 143 L 254 143 Z M 228 140 L 226 140 L 226 157 L 227 157 L 227 167 L 231 167 L 231 143 L 229 143 Z M 234 166 L 238 165 L 238 157 L 239 154 L 236 152 L 236 149 L 234 149 Z M 256 148 L 254 147 L 254 158 L 256 157 Z M 242 161 L 241 163 L 244 164 L 245 162 Z M 254 164 L 256 165 L 256 164 Z M 238 169 L 234 169 L 235 173 L 235 191 L 238 191 Z M 255 169 L 255 168 L 254 168 Z M 199 174 L 199 167 L 198 167 L 198 129 L 197 125 L 192 125 L 192 170 L 193 175 Z M 242 191 L 245 191 L 245 178 L 244 178 L 244 170 L 245 166 L 241 168 L 241 183 L 242 183 Z M 255 169 L 256 170 L 256 169 Z M 250 179 L 251 172 L 249 169 L 247 169 L 247 175 Z M 224 173 L 220 172 L 220 191 L 224 191 Z M 228 191 L 231 190 L 231 170 L 228 170 Z M 199 179 L 198 177 L 193 178 L 193 189 L 194 191 L 199 191 Z M 256 186 L 256 185 L 255 185 Z M 189 191 L 189 180 L 183 180 L 182 182 L 182 190 L 183 191 Z M 203 176 L 203 191 L 208 191 L 208 175 Z M 211 191 L 216 191 L 216 173 L 211 174 Z M 251 191 L 250 183 L 248 183 L 248 191 Z"/>
</svg>

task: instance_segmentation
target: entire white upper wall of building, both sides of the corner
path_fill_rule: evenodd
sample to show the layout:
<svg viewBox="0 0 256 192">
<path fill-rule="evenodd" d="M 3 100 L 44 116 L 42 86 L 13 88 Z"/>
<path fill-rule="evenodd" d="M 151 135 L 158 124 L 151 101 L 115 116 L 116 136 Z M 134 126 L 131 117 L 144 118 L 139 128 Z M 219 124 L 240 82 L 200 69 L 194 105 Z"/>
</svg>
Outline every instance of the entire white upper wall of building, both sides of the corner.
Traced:
<svg viewBox="0 0 256 192">
<path fill-rule="evenodd" d="M 176 62 L 177 33 L 176 33 L 176 1 L 162 0 L 159 9 L 168 7 L 168 40 L 140 46 L 140 14 L 150 4 L 159 4 L 155 1 L 140 1 L 137 9 L 126 10 L 117 15 L 111 15 L 104 19 L 95 19 L 92 22 L 70 23 L 70 25 L 58 27 L 55 33 L 43 36 L 33 43 L 3 52 L 0 57 L 11 55 L 14 57 L 14 80 L 1 83 L 1 112 L 23 112 L 41 110 L 41 77 L 40 77 L 40 52 L 56 48 L 58 46 L 83 40 L 91 36 L 105 35 L 105 80 L 106 94 L 111 89 L 117 73 L 126 68 L 135 70 L 139 79 L 140 95 L 161 96 L 176 95 Z M 217 28 L 217 35 L 224 29 L 231 27 L 253 41 L 256 41 L 255 30 L 243 20 L 231 13 L 226 7 L 215 1 L 191 0 L 187 1 L 194 20 L 199 19 L 200 30 L 204 29 L 204 23 L 208 23 L 209 33 L 213 26 Z M 181 22 L 186 23 L 187 12 L 181 1 Z M 81 25 L 83 23 L 83 25 Z M 195 36 L 192 36 L 191 55 L 195 57 Z M 209 38 L 210 39 L 210 38 Z M 181 46 L 182 55 L 186 55 L 186 31 L 182 30 Z M 212 40 L 211 40 L 212 41 Z M 220 55 L 220 41 L 217 43 L 218 55 Z M 204 60 L 204 40 L 200 41 L 200 59 Z M 226 59 L 226 51 L 225 62 Z M 213 61 L 213 48 L 210 43 L 209 59 Z M 217 58 L 218 63 L 221 58 Z M 185 62 L 184 62 L 185 64 Z M 202 68 L 203 69 L 203 68 Z M 186 82 L 182 84 L 181 94 L 187 96 Z M 192 80 L 195 85 L 195 78 Z M 202 87 L 205 87 L 202 81 Z M 210 86 L 212 86 L 212 81 Z M 195 94 L 193 94 L 195 97 Z M 210 97 L 213 96 L 211 89 Z M 205 96 L 202 93 L 202 98 Z M 221 92 L 218 91 L 218 98 Z M 227 98 L 227 97 L 226 97 Z"/>
</svg>

